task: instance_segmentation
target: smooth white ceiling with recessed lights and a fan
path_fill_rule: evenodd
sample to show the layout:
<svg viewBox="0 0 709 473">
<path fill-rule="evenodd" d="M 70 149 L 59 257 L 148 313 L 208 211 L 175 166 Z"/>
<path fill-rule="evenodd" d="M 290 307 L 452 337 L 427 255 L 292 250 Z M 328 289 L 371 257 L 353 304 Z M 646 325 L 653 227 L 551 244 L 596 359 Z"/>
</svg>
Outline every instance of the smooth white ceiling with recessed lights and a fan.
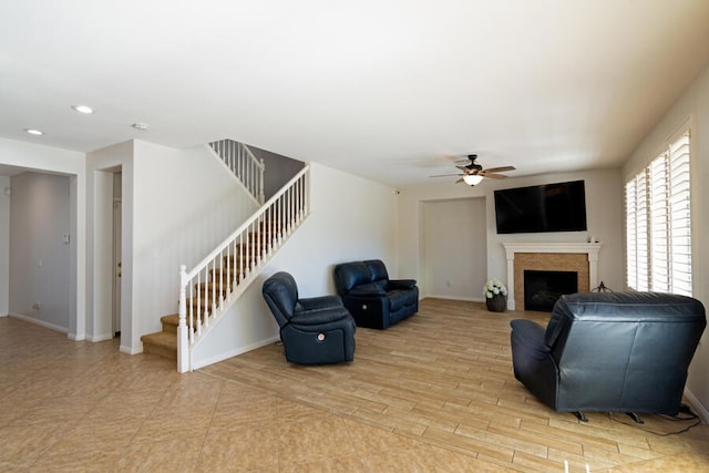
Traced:
<svg viewBox="0 0 709 473">
<path fill-rule="evenodd" d="M 616 167 L 708 63 L 707 0 L 12 1 L 0 136 L 229 137 L 397 187 Z"/>
</svg>

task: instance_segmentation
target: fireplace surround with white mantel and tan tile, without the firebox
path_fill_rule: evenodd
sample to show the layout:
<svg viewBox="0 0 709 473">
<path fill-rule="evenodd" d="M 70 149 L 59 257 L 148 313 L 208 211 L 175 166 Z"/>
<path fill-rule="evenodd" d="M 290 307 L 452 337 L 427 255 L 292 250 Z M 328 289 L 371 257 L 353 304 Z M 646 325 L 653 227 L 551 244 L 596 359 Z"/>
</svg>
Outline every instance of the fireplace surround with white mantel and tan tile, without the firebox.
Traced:
<svg viewBox="0 0 709 473">
<path fill-rule="evenodd" d="M 598 286 L 600 243 L 503 243 L 507 259 L 507 309 L 524 308 L 524 270 L 575 270 L 578 291 Z"/>
</svg>

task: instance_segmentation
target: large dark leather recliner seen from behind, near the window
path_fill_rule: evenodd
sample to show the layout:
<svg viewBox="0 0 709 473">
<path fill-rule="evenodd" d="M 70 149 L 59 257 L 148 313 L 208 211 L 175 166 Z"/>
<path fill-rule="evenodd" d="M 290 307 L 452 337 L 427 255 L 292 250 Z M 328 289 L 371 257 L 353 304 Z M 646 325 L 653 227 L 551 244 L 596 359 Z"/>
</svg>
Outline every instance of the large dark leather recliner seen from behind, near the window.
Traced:
<svg viewBox="0 0 709 473">
<path fill-rule="evenodd" d="M 690 297 L 657 292 L 562 296 L 546 329 L 513 320 L 514 376 L 557 412 L 677 414 L 707 325 Z"/>
</svg>

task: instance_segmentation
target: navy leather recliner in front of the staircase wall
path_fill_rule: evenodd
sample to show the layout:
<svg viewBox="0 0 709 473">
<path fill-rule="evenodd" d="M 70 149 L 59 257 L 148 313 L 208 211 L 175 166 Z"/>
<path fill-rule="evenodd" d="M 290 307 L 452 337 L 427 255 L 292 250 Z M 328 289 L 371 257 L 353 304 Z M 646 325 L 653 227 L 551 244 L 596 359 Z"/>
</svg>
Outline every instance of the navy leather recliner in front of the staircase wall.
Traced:
<svg viewBox="0 0 709 473">
<path fill-rule="evenodd" d="M 357 326 L 339 296 L 298 299 L 288 273 L 276 273 L 263 287 L 264 299 L 280 326 L 286 360 L 323 364 L 354 359 Z"/>
</svg>

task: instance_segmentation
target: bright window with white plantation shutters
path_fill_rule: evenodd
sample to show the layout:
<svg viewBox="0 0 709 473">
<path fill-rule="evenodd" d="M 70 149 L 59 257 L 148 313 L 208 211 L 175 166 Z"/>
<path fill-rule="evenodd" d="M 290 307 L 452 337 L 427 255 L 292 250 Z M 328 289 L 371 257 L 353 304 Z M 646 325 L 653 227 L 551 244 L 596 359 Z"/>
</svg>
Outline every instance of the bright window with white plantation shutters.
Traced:
<svg viewBox="0 0 709 473">
<path fill-rule="evenodd" d="M 691 296 L 689 130 L 625 185 L 626 284 Z"/>
</svg>

